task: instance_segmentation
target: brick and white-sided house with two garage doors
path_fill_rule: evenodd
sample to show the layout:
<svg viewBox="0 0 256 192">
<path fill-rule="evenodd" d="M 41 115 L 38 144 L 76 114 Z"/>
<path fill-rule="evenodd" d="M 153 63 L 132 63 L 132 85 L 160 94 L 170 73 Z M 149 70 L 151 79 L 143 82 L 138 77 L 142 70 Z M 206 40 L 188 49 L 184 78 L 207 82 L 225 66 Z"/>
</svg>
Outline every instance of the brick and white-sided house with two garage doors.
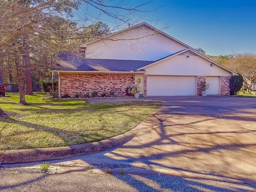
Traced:
<svg viewBox="0 0 256 192">
<path fill-rule="evenodd" d="M 208 95 L 229 95 L 233 71 L 194 48 L 146 24 L 138 24 L 80 45 L 83 58 L 64 52 L 56 68 L 59 97 L 93 91 L 119 96 L 138 84 L 142 96 L 197 96 L 200 82 Z"/>
</svg>

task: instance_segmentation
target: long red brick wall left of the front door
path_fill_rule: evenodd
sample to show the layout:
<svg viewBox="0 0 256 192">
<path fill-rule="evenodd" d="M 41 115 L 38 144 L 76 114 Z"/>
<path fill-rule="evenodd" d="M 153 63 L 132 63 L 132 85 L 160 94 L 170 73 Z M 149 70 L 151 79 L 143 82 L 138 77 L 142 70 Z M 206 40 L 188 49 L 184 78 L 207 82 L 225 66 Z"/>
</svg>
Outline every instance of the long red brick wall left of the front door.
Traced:
<svg viewBox="0 0 256 192">
<path fill-rule="evenodd" d="M 113 91 L 118 96 L 126 96 L 127 86 L 134 87 L 134 74 L 60 74 L 60 97 L 68 94 L 75 97 L 76 93 L 84 96 L 86 92 L 92 96 L 93 91 L 101 96 L 103 92 L 109 94 Z"/>
</svg>

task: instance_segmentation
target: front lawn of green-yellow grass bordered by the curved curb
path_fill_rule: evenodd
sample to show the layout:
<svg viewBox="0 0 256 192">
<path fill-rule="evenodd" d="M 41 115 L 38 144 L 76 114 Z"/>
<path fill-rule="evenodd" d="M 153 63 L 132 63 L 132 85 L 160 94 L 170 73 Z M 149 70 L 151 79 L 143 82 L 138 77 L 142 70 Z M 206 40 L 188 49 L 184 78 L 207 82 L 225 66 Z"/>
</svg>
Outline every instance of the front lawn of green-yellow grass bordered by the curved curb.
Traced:
<svg viewBox="0 0 256 192">
<path fill-rule="evenodd" d="M 41 100 L 42 92 L 0 97 L 0 150 L 47 148 L 111 138 L 131 130 L 162 106 L 160 102 L 89 103 L 86 100 Z"/>
</svg>

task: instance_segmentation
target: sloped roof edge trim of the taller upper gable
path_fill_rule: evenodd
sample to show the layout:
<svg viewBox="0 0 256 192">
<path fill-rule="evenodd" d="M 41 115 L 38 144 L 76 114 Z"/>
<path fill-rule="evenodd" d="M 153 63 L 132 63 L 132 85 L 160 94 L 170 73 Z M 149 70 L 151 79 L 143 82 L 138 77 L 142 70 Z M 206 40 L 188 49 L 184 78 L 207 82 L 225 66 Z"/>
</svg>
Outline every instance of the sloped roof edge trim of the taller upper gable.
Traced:
<svg viewBox="0 0 256 192">
<path fill-rule="evenodd" d="M 135 26 L 132 26 L 132 27 L 129 27 L 129 28 L 120 30 L 120 31 L 115 32 L 115 33 L 112 33 L 112 34 L 109 34 L 109 35 L 107 35 L 107 36 L 104 36 L 103 38 L 97 38 L 97 39 L 92 40 L 92 41 L 90 41 L 90 42 L 81 44 L 80 47 L 86 47 L 88 44 L 91 44 L 91 43 L 93 43 L 93 42 L 96 42 L 96 41 L 99 41 L 99 40 L 102 40 L 102 39 L 112 40 L 111 37 L 114 36 L 115 34 L 122 33 L 122 32 L 125 32 L 125 31 L 127 31 L 127 30 L 130 30 L 130 29 L 138 28 L 138 27 L 140 27 L 140 26 L 147 26 L 148 28 L 152 29 L 153 31 L 156 31 L 157 34 L 162 34 L 162 35 L 166 36 L 167 38 L 170 38 L 170 39 L 172 39 L 172 40 L 178 42 L 179 44 L 182 44 L 182 45 L 184 45 L 184 46 L 186 46 L 186 47 L 188 47 L 188 48 L 190 48 L 190 49 L 192 49 L 192 50 L 194 50 L 194 51 L 197 52 L 196 49 L 194 49 L 194 48 L 188 46 L 187 44 L 184 44 L 183 42 L 181 42 L 181 41 L 179 41 L 179 40 L 173 38 L 172 36 L 169 36 L 168 34 L 162 32 L 161 30 L 158 30 L 157 28 L 154 28 L 153 26 L 147 24 L 146 22 L 137 24 L 137 25 L 135 25 Z M 129 39 L 124 39 L 124 40 L 129 40 Z"/>
</svg>

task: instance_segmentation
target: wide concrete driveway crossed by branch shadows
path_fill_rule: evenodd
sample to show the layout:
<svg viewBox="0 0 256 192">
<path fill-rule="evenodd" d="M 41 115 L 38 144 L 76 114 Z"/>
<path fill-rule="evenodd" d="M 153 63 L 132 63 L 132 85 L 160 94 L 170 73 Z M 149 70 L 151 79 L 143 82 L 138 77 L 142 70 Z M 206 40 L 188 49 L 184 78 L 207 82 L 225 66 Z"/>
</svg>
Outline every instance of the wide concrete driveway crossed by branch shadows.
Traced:
<svg viewBox="0 0 256 192">
<path fill-rule="evenodd" d="M 255 98 L 151 99 L 164 106 L 136 127 L 132 140 L 104 156 L 120 164 L 256 177 Z"/>
</svg>

